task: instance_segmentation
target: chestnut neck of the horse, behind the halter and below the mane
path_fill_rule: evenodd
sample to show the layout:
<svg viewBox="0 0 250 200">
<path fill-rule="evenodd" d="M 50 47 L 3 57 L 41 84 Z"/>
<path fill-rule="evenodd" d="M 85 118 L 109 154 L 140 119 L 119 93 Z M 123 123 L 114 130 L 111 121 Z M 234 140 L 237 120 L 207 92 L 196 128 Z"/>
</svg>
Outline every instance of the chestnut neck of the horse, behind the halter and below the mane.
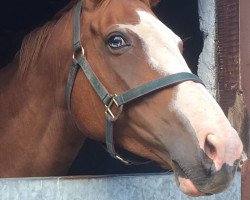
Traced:
<svg viewBox="0 0 250 200">
<path fill-rule="evenodd" d="M 84 142 L 64 98 L 72 49 L 66 30 L 73 27 L 67 20 L 50 30 L 32 66 L 20 69 L 17 57 L 0 71 L 0 177 L 63 175 Z"/>
</svg>

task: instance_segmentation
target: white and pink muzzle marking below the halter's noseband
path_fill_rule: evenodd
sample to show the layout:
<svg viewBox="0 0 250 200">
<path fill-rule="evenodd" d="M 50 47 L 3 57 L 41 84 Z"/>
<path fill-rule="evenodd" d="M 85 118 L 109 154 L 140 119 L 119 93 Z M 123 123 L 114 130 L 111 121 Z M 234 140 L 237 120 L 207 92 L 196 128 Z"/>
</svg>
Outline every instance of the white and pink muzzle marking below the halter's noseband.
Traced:
<svg viewBox="0 0 250 200">
<path fill-rule="evenodd" d="M 215 167 L 219 170 L 223 163 L 233 165 L 242 152 L 242 145 L 237 132 L 215 99 L 204 86 L 191 81 L 177 86 L 178 90 L 170 110 L 178 115 L 187 126 L 191 124 L 197 135 L 200 148 L 205 150 L 208 135 L 216 138 L 214 142 L 216 157 Z"/>
</svg>

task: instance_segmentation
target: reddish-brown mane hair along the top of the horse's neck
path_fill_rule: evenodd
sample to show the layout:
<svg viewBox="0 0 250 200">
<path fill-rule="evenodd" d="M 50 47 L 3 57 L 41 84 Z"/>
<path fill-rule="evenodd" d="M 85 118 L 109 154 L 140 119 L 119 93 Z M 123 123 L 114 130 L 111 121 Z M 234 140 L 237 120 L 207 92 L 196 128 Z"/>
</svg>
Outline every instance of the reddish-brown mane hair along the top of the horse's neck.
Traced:
<svg viewBox="0 0 250 200">
<path fill-rule="evenodd" d="M 55 14 L 51 21 L 42 27 L 36 28 L 22 41 L 19 55 L 19 72 L 23 76 L 29 67 L 33 66 L 39 58 L 42 50 L 47 46 L 54 26 L 65 16 L 76 4 L 76 0 L 70 1 L 63 9 Z"/>
</svg>

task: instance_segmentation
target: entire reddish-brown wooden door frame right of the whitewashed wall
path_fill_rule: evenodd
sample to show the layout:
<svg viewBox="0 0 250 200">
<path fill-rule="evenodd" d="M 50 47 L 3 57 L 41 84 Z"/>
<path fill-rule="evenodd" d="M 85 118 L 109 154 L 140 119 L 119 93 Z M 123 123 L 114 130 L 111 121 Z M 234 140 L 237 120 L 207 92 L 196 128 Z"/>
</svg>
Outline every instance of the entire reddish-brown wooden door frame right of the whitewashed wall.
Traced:
<svg viewBox="0 0 250 200">
<path fill-rule="evenodd" d="M 217 1 L 218 94 L 250 156 L 250 1 Z M 250 161 L 242 167 L 241 199 L 250 199 Z"/>
</svg>

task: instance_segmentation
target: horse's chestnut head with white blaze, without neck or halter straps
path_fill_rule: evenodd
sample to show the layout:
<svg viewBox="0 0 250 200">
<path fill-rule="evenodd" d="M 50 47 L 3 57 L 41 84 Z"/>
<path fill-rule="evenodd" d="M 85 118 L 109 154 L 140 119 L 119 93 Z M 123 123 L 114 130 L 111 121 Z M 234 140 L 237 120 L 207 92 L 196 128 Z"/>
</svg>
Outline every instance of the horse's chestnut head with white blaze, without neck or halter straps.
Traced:
<svg viewBox="0 0 250 200">
<path fill-rule="evenodd" d="M 80 54 L 111 94 L 173 74 L 191 73 L 183 43 L 151 11 L 153 0 L 85 0 Z M 77 54 L 77 53 L 76 53 Z M 77 56 L 77 55 L 75 55 Z M 105 141 L 105 106 L 86 75 L 77 72 L 71 114 L 87 137 Z M 231 183 L 242 143 L 206 88 L 186 80 L 124 105 L 114 143 L 173 169 L 180 189 L 198 196 Z"/>
</svg>

